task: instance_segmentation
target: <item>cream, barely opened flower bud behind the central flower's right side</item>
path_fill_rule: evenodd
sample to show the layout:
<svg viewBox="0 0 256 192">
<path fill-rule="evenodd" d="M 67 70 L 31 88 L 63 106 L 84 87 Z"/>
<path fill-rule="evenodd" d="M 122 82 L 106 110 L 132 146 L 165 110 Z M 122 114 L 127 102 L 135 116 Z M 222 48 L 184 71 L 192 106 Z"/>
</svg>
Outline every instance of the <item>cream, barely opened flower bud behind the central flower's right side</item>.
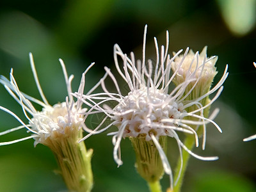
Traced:
<svg viewBox="0 0 256 192">
<path fill-rule="evenodd" d="M 219 86 L 216 86 L 216 88 L 220 88 L 220 90 L 216 94 L 216 97 L 214 97 L 214 99 L 212 99 L 211 101 L 209 99 L 209 95 L 212 92 L 216 91 L 216 89 L 214 88 L 210 91 L 210 88 L 214 77 L 218 73 L 215 67 L 215 63 L 218 60 L 218 57 L 212 56 L 211 58 L 207 58 L 206 52 L 206 46 L 204 47 L 202 52 L 200 52 L 200 54 L 198 54 L 198 52 L 196 52 L 195 54 L 192 50 L 189 50 L 185 58 L 184 56 L 179 55 L 175 58 L 174 61 L 172 61 L 172 71 L 174 73 L 177 72 L 177 75 L 173 78 L 173 83 L 175 83 L 176 86 L 184 83 L 187 79 L 187 76 L 195 77 L 196 79 L 195 81 L 191 81 L 186 86 L 186 89 L 180 101 L 191 101 L 196 99 L 197 104 L 200 104 L 202 107 L 204 107 L 204 111 L 201 112 L 204 113 L 203 116 L 205 117 L 209 115 L 209 107 L 211 106 L 212 102 L 214 102 L 214 100 L 216 100 L 220 95 L 221 90 L 223 89 L 223 87 L 220 88 L 220 86 L 221 84 L 223 84 L 225 78 L 227 77 L 226 74 L 225 78 L 220 80 L 220 82 L 218 83 Z M 182 61 L 182 59 L 184 60 Z M 227 67 L 225 71 L 227 72 Z M 200 115 L 200 110 L 198 110 L 197 104 L 192 102 L 191 104 L 189 104 L 189 106 L 186 107 L 186 111 L 197 111 L 195 114 Z M 196 120 L 197 117 L 186 116 L 185 118 L 189 120 Z M 191 127 L 193 127 L 193 129 L 195 129 L 196 131 L 198 129 L 198 125 L 191 125 Z M 204 150 L 206 142 L 205 124 L 203 124 L 202 127 L 204 133 L 202 148 Z"/>
</svg>

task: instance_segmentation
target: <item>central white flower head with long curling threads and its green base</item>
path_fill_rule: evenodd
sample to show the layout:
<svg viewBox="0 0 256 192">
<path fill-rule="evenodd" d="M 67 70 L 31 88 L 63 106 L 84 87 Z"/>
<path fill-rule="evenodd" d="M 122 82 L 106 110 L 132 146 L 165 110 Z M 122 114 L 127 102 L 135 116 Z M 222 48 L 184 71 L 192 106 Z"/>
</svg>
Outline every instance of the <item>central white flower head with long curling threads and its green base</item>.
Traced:
<svg viewBox="0 0 256 192">
<path fill-rule="evenodd" d="M 113 157 L 120 166 L 122 164 L 120 155 L 120 143 L 122 138 L 129 138 L 134 147 L 136 153 L 136 168 L 140 173 L 141 177 L 147 180 L 149 185 L 154 185 L 161 179 L 163 172 L 170 175 L 170 188 L 173 189 L 173 176 L 172 169 L 168 163 L 166 157 L 166 136 L 175 138 L 177 141 L 180 157 L 182 159 L 182 148 L 186 150 L 191 156 L 198 159 L 211 161 L 216 160 L 218 157 L 201 157 L 189 150 L 179 138 L 177 132 L 184 132 L 185 134 L 193 134 L 195 137 L 196 147 L 198 147 L 198 134 L 191 125 L 205 125 L 211 123 L 217 127 L 221 132 L 220 127 L 212 120 L 218 111 L 214 111 L 209 118 L 205 118 L 204 109 L 211 105 L 214 100 L 218 98 L 223 87 L 221 84 L 227 78 L 227 68 L 221 77 L 221 80 L 214 88 L 206 92 L 201 97 L 196 97 L 193 100 L 186 100 L 189 93 L 184 95 L 186 88 L 191 82 L 198 81 L 196 73 L 203 66 L 198 67 L 196 65 L 195 70 L 184 77 L 184 82 L 179 83 L 176 88 L 170 91 L 170 84 L 176 76 L 180 76 L 180 67 L 188 56 L 188 49 L 186 49 L 184 56 L 180 58 L 177 70 L 171 75 L 171 68 L 173 61 L 182 52 L 180 50 L 172 58 L 168 54 L 168 31 L 166 32 L 166 49 L 164 46 L 161 47 L 159 54 L 159 47 L 157 39 L 154 38 L 156 46 L 156 67 L 153 70 L 152 60 L 148 60 L 146 65 L 145 59 L 145 45 L 146 45 L 146 33 L 147 26 L 145 26 L 144 38 L 143 38 L 143 60 L 135 61 L 133 52 L 131 52 L 131 58 L 128 58 L 126 54 L 122 52 L 120 47 L 116 44 L 114 46 L 114 60 L 116 70 L 124 79 L 125 83 L 129 87 L 129 93 L 122 95 L 120 86 L 111 70 L 105 67 L 105 70 L 109 77 L 115 84 L 117 93 L 111 93 L 106 88 L 104 78 L 101 79 L 102 89 L 104 93 L 96 93 L 91 95 L 83 95 L 83 102 L 86 104 L 91 102 L 95 106 L 95 113 L 101 111 L 106 114 L 106 117 L 110 117 L 113 122 L 108 125 L 115 125 L 118 127 L 118 131 L 111 132 L 109 135 L 113 135 Z M 118 56 L 124 61 L 124 66 L 120 67 L 118 63 Z M 198 53 L 196 53 L 196 61 L 198 63 Z M 200 72 L 199 72 L 200 73 Z M 190 92 L 194 89 L 191 88 Z M 200 100 L 204 99 L 211 93 L 216 93 L 214 99 L 207 106 L 202 106 L 199 103 Z M 75 93 L 75 95 L 79 95 Z M 87 101 L 86 101 L 87 100 Z M 101 100 L 95 102 L 94 100 Z M 104 102 L 115 101 L 117 102 L 114 108 L 110 108 L 107 104 L 104 104 L 103 108 L 100 104 Z M 189 106 L 196 106 L 194 111 L 186 111 Z M 196 113 L 200 112 L 199 115 Z M 184 117 L 193 116 L 196 120 L 186 120 Z M 106 121 L 106 118 L 100 123 L 101 125 Z M 106 130 L 105 127 L 102 130 Z M 99 127 L 97 127 L 98 129 Z M 96 130 L 94 130 L 96 133 Z M 100 130 L 101 131 L 101 130 Z M 180 171 L 182 163 L 180 164 Z M 179 177 L 178 177 L 179 179 Z M 177 180 L 178 180 L 177 179 Z M 177 182 L 176 180 L 176 182 Z"/>
</svg>

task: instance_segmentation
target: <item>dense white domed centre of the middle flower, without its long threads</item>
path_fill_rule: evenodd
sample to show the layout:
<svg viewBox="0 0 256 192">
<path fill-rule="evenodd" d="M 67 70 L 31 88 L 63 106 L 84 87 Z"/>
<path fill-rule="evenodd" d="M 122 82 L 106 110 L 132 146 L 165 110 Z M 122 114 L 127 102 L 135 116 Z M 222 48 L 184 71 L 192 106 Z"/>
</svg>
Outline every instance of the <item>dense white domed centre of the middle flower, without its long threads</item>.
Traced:
<svg viewBox="0 0 256 192">
<path fill-rule="evenodd" d="M 177 118 L 182 106 L 161 90 L 141 88 L 129 92 L 123 102 L 116 106 L 115 125 L 120 129 L 127 124 L 124 137 L 146 137 L 146 140 L 150 140 L 150 134 L 154 134 L 158 138 L 166 135 L 167 126 L 173 125 L 162 120 Z"/>
</svg>

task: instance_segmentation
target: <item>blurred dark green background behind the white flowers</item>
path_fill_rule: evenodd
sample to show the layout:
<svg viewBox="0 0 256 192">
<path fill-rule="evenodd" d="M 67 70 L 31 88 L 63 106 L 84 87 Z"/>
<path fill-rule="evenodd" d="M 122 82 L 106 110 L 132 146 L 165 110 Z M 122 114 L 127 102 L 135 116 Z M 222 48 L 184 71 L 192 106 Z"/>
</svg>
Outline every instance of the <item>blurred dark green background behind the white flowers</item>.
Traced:
<svg viewBox="0 0 256 192">
<path fill-rule="evenodd" d="M 216 122 L 220 134 L 208 126 L 207 146 L 195 152 L 202 156 L 219 156 L 214 162 L 191 157 L 182 191 L 255 191 L 256 141 L 243 138 L 256 134 L 256 3 L 255 0 L 228 1 L 0 1 L 0 73 L 8 77 L 14 70 L 20 90 L 40 98 L 29 65 L 33 52 L 35 65 L 45 96 L 51 104 L 65 100 L 67 90 L 58 58 L 74 74 L 73 90 L 82 72 L 92 62 L 95 67 L 86 76 L 88 90 L 104 74 L 103 67 L 113 68 L 113 45 L 141 58 L 143 28 L 148 24 L 147 58 L 156 58 L 153 37 L 165 44 L 170 32 L 170 53 L 190 47 L 201 51 L 208 45 L 208 55 L 218 55 L 216 81 L 228 63 L 230 72 L 220 99 L 212 108 L 220 108 Z M 151 54 L 152 52 L 152 54 Z M 109 84 L 109 86 L 111 86 Z M 0 87 L 0 105 L 25 120 L 19 105 Z M 96 119 L 100 118 L 96 116 Z M 94 117 L 95 119 L 95 117 Z M 88 119 L 86 124 L 96 122 Z M 0 129 L 19 123 L 0 111 Z M 114 128 L 111 128 L 113 131 Z M 10 141 L 28 136 L 17 131 L 1 136 Z M 134 152 L 129 140 L 122 141 L 124 164 L 116 168 L 111 137 L 106 133 L 85 141 L 93 148 L 93 191 L 147 191 L 146 182 L 134 168 Z M 168 143 L 168 158 L 175 166 L 177 145 Z M 0 191 L 67 191 L 49 148 L 33 147 L 33 140 L 0 147 Z M 168 187 L 168 177 L 161 181 Z"/>
</svg>

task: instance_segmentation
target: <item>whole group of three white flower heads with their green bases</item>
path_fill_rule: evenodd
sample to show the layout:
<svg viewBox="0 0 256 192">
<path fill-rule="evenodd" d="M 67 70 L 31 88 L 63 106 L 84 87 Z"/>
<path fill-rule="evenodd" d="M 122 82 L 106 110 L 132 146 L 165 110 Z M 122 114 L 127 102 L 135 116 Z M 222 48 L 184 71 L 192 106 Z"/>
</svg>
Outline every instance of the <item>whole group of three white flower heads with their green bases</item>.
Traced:
<svg viewBox="0 0 256 192">
<path fill-rule="evenodd" d="M 149 185 L 159 182 L 165 172 L 170 175 L 170 190 L 173 190 L 182 177 L 184 151 L 204 161 L 218 159 L 218 157 L 198 156 L 192 152 L 192 148 L 194 145 L 199 146 L 200 137 L 202 137 L 202 148 L 205 149 L 207 124 L 213 124 L 218 131 L 222 132 L 213 121 L 218 114 L 218 109 L 209 115 L 209 108 L 223 90 L 222 84 L 228 76 L 227 67 L 218 83 L 211 87 L 217 74 L 215 63 L 218 58 L 216 56 L 207 58 L 207 47 L 200 53 L 194 53 L 187 48 L 184 54 L 180 50 L 170 56 L 168 54 L 169 35 L 166 31 L 165 48 L 162 45 L 159 49 L 157 39 L 154 38 L 156 63 L 153 63 L 152 60 L 146 60 L 146 34 L 147 26 L 143 36 L 142 61 L 136 61 L 133 52 L 128 57 L 117 44 L 114 46 L 115 68 L 129 88 L 128 93 L 122 93 L 119 79 L 116 79 L 108 67 L 104 68 L 106 74 L 102 79 L 89 92 L 84 93 L 84 78 L 94 63 L 83 73 L 78 91 L 72 93 L 71 82 L 74 76 L 68 77 L 65 65 L 60 60 L 68 96 L 65 102 L 53 106 L 49 104 L 42 92 L 33 56 L 29 54 L 36 86 L 43 101 L 20 92 L 13 77 L 13 70 L 10 72 L 10 80 L 1 76 L 0 83 L 20 104 L 28 124 L 25 124 L 12 111 L 0 106 L 1 110 L 6 111 L 22 124 L 1 132 L 0 135 L 25 128 L 31 132 L 31 136 L 2 142 L 0 145 L 33 138 L 35 146 L 42 143 L 51 148 L 67 187 L 72 191 L 92 189 L 90 164 L 92 150 L 87 151 L 83 141 L 93 134 L 106 131 L 112 125 L 117 127 L 117 131 L 110 132 L 108 135 L 113 136 L 113 157 L 116 163 L 118 166 L 122 165 L 120 143 L 123 138 L 129 138 L 136 154 L 136 168 Z M 113 81 L 116 92 L 111 92 L 107 88 L 107 77 Z M 100 85 L 103 92 L 94 93 Z M 215 95 L 210 99 L 209 95 L 212 93 Z M 74 97 L 77 99 L 76 102 Z M 33 102 L 42 106 L 42 111 L 36 110 Z M 109 102 L 115 103 L 114 106 L 110 106 Z M 86 104 L 88 109 L 82 108 L 82 104 Z M 105 117 L 97 127 L 87 127 L 86 118 L 95 113 L 103 113 Z M 106 125 L 108 119 L 111 123 Z M 83 136 L 83 131 L 88 134 Z M 184 134 L 184 138 L 192 138 L 193 146 L 185 145 L 184 140 L 180 139 L 180 134 Z M 173 181 L 172 168 L 166 156 L 166 138 L 168 137 L 177 141 L 180 152 L 180 167 L 175 181 Z"/>
</svg>

